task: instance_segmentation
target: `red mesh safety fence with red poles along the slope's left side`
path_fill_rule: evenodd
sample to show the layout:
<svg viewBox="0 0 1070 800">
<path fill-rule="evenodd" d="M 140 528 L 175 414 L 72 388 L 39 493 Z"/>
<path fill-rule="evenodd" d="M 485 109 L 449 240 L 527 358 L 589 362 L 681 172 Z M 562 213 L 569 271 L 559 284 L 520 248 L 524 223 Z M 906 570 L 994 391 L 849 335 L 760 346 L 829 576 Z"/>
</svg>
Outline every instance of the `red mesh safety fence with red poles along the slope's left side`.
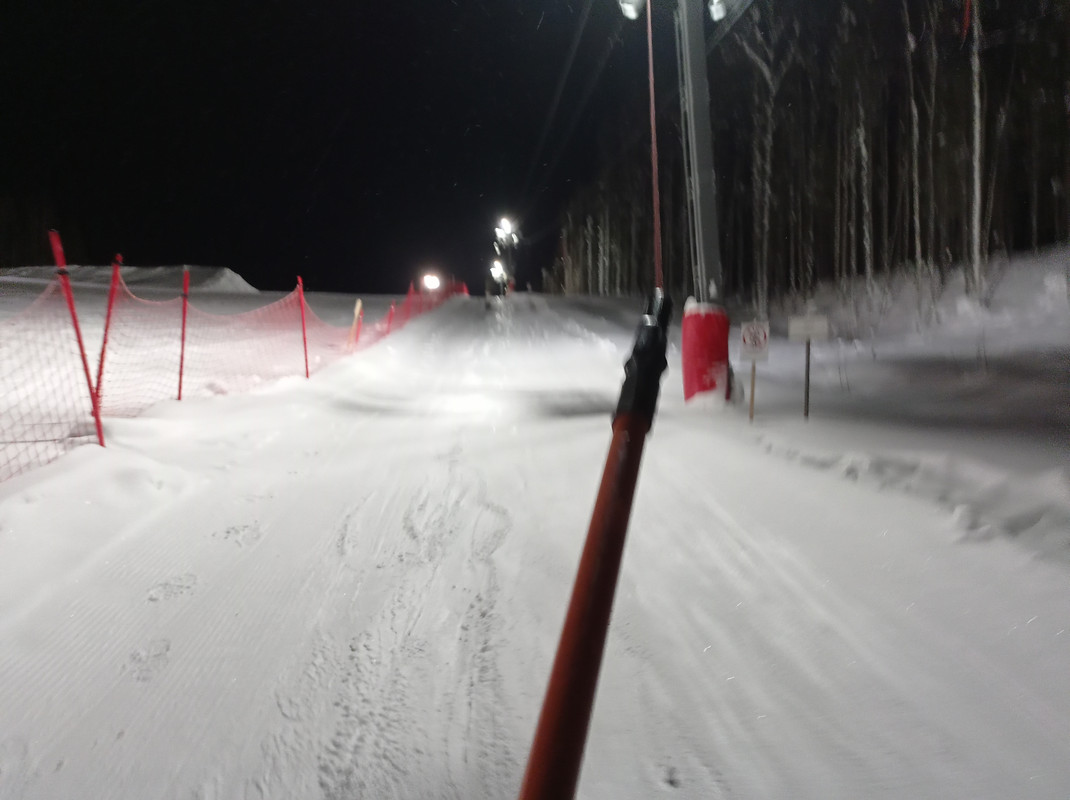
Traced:
<svg viewBox="0 0 1070 800">
<path fill-rule="evenodd" d="M 62 248 L 54 239 L 57 263 Z M 317 372 L 369 347 L 441 305 L 412 287 L 400 305 L 365 324 L 324 322 L 297 289 L 253 311 L 218 314 L 181 297 L 148 301 L 112 280 L 98 356 L 87 359 L 65 271 L 24 311 L 0 321 L 0 480 L 45 464 L 86 442 L 104 444 L 102 416 L 136 416 L 160 400 L 247 391 L 279 378 Z M 92 360 L 92 364 L 90 364 Z"/>
</svg>

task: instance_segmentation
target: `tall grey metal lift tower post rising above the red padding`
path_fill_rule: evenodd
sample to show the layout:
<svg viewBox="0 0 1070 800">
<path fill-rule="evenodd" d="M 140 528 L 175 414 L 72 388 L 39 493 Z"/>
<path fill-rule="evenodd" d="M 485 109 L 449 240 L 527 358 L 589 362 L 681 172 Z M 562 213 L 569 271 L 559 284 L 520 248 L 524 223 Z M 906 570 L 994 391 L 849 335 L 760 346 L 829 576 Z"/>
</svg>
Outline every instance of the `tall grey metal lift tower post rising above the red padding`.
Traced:
<svg viewBox="0 0 1070 800">
<path fill-rule="evenodd" d="M 708 302 L 709 281 L 722 287 L 721 250 L 717 232 L 717 188 L 714 175 L 714 136 L 709 124 L 709 84 L 706 43 L 702 31 L 702 0 L 678 0 L 679 46 L 684 64 L 682 102 L 687 116 L 687 144 L 692 193 L 691 216 L 698 239 L 694 266 L 696 297 Z"/>
</svg>

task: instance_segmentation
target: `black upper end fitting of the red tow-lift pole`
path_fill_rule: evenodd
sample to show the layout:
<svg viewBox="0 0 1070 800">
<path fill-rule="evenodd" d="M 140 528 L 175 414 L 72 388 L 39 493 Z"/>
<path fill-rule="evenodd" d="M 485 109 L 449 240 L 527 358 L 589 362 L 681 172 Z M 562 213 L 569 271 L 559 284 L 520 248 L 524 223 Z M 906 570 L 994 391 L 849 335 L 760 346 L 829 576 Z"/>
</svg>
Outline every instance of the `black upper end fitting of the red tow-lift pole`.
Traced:
<svg viewBox="0 0 1070 800">
<path fill-rule="evenodd" d="M 672 299 L 660 289 L 655 289 L 636 332 L 631 357 L 624 365 L 624 386 L 621 387 L 614 420 L 630 414 L 642 419 L 647 430 L 654 425 L 661 373 L 669 366 L 666 351 L 671 318 Z"/>
</svg>

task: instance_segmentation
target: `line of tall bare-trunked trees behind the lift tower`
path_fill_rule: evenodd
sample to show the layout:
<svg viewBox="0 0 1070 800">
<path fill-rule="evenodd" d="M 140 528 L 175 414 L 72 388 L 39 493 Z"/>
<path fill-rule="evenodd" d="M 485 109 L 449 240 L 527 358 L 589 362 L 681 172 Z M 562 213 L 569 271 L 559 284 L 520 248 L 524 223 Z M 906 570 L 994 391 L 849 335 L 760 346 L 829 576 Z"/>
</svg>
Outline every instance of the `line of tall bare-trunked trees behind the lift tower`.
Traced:
<svg viewBox="0 0 1070 800">
<path fill-rule="evenodd" d="M 707 70 L 721 296 L 760 316 L 822 280 L 875 294 L 906 268 L 930 317 L 957 264 L 987 303 L 1011 251 L 1070 237 L 1070 0 L 754 0 Z M 678 111 L 658 125 L 666 284 L 686 296 Z M 569 199 L 548 289 L 649 289 L 633 129 L 608 128 L 598 178 Z"/>
</svg>

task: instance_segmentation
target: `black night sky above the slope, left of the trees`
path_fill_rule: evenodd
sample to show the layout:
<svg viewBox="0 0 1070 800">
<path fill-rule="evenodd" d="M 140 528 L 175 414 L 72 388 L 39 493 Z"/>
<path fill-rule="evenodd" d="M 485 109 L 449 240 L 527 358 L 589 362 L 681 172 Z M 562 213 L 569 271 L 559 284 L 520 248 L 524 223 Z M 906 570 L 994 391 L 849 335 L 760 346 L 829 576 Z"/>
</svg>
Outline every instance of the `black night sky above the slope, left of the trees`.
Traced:
<svg viewBox="0 0 1070 800">
<path fill-rule="evenodd" d="M 511 214 L 531 279 L 602 121 L 645 121 L 644 28 L 593 0 L 524 193 L 584 2 L 21 2 L 0 33 L 0 197 L 47 207 L 72 260 L 225 265 L 265 289 L 399 291 L 425 265 L 482 284 Z"/>
</svg>

